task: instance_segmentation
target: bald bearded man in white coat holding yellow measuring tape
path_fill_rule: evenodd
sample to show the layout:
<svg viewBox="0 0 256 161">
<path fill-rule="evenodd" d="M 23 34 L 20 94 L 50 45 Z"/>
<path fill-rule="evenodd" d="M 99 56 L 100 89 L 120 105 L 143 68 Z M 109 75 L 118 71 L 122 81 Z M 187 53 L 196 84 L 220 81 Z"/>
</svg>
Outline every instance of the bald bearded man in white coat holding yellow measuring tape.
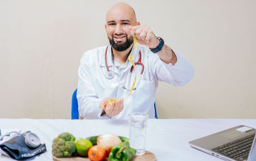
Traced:
<svg viewBox="0 0 256 161">
<path fill-rule="evenodd" d="M 105 30 L 110 44 L 87 51 L 81 58 L 79 115 L 127 119 L 131 112 L 143 112 L 154 118 L 158 81 L 185 85 L 194 74 L 191 64 L 137 22 L 134 9 L 126 3 L 116 3 L 107 11 Z M 143 46 L 137 46 L 134 37 Z"/>
</svg>

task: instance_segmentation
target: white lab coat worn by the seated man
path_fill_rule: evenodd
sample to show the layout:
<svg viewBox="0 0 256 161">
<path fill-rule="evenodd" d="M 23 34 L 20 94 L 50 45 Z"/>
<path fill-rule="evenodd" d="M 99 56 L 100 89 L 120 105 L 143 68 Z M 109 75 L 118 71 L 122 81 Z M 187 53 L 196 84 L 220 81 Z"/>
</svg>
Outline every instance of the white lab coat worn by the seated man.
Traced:
<svg viewBox="0 0 256 161">
<path fill-rule="evenodd" d="M 124 64 L 125 68 L 122 73 L 114 66 L 111 58 L 111 45 L 107 51 L 107 64 L 110 70 L 114 71 L 114 78 L 105 77 L 107 69 L 105 65 L 105 50 L 107 46 L 102 46 L 84 53 L 81 58 L 81 64 L 78 69 L 78 86 L 77 100 L 79 115 L 85 119 L 127 119 L 131 112 L 144 112 L 149 118 L 154 118 L 154 102 L 158 81 L 165 81 L 173 86 L 182 86 L 190 81 L 193 77 L 194 70 L 191 64 L 175 52 L 177 63 L 173 66 L 171 63 L 166 64 L 151 52 L 148 47 L 138 46 L 134 54 L 134 62 L 139 59 L 141 52 L 141 62 L 144 64 L 144 72 L 140 75 L 141 66 L 136 65 L 136 69 L 128 78 L 132 63 Z M 133 54 L 134 48 L 131 54 Z M 136 90 L 128 96 L 129 91 L 122 88 L 126 86 L 131 88 L 134 81 L 134 75 L 137 74 L 137 81 L 140 83 Z M 127 85 L 128 84 L 128 85 Z M 128 96 L 128 97 L 127 97 Z M 116 116 L 102 115 L 99 103 L 103 98 L 125 98 L 122 112 Z"/>
</svg>

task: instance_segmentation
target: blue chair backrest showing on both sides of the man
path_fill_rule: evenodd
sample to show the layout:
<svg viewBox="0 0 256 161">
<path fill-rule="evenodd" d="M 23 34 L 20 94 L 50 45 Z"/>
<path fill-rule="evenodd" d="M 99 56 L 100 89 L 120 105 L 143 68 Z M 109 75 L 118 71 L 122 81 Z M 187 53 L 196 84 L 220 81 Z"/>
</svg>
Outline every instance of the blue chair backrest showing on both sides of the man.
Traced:
<svg viewBox="0 0 256 161">
<path fill-rule="evenodd" d="M 71 119 L 79 119 L 79 114 L 78 114 L 78 102 L 76 98 L 76 91 L 72 95 L 72 104 L 71 104 Z M 158 119 L 157 117 L 157 108 L 156 108 L 156 103 L 154 104 L 155 107 L 155 118 Z"/>
</svg>

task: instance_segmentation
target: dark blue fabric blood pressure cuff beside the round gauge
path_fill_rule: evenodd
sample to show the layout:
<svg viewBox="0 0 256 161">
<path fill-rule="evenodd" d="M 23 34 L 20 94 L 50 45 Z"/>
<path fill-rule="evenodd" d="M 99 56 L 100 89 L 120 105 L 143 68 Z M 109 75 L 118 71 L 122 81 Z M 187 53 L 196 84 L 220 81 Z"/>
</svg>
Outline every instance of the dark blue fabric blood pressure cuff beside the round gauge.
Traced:
<svg viewBox="0 0 256 161">
<path fill-rule="evenodd" d="M 25 137 L 23 135 L 17 135 L 0 144 L 0 148 L 13 159 L 20 161 L 32 160 L 36 155 L 46 152 L 45 144 L 40 144 L 37 148 L 29 148 L 25 143 Z"/>
</svg>

